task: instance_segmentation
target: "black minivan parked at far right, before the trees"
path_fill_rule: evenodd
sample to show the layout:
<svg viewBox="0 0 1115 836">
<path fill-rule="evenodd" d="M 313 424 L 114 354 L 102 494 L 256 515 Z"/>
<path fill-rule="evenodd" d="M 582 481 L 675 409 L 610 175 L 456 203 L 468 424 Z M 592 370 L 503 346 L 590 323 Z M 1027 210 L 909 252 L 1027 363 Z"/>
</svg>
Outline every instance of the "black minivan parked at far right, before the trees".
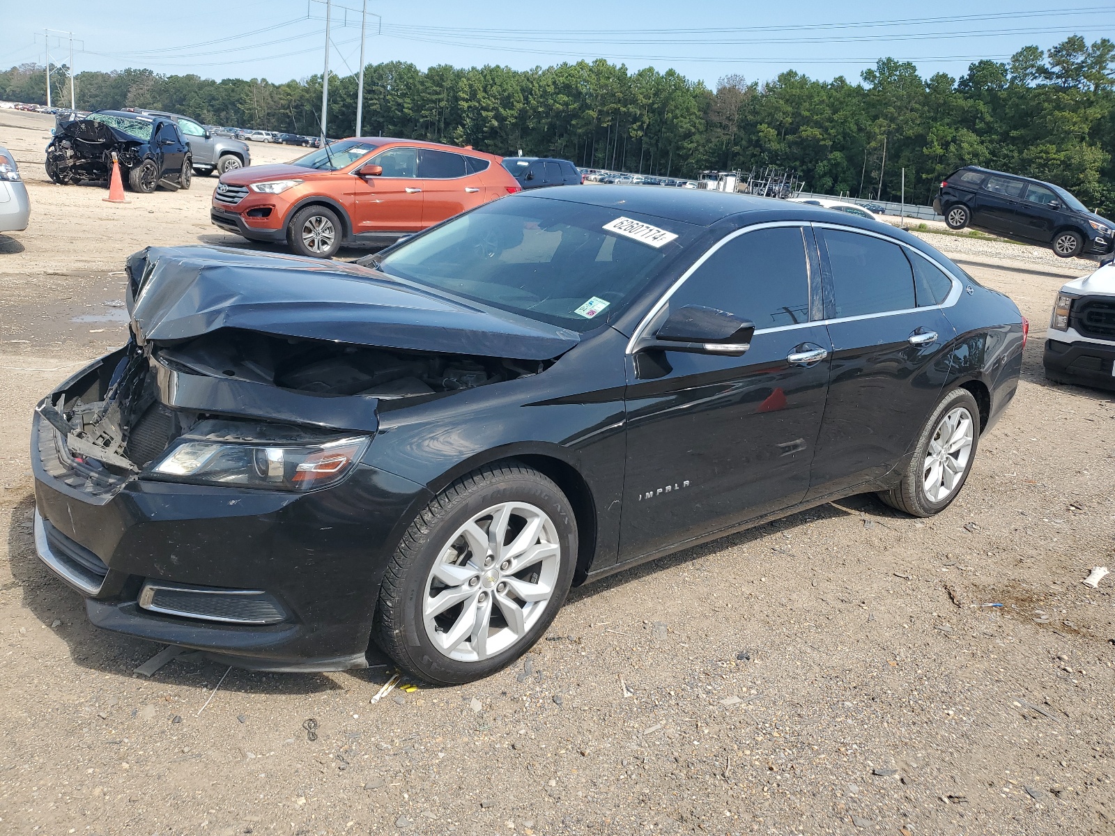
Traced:
<svg viewBox="0 0 1115 836">
<path fill-rule="evenodd" d="M 1053 183 L 964 166 L 950 174 L 933 201 L 952 230 L 972 226 L 1002 237 L 1044 244 L 1063 259 L 1106 254 L 1115 222 L 1101 217 Z"/>
</svg>

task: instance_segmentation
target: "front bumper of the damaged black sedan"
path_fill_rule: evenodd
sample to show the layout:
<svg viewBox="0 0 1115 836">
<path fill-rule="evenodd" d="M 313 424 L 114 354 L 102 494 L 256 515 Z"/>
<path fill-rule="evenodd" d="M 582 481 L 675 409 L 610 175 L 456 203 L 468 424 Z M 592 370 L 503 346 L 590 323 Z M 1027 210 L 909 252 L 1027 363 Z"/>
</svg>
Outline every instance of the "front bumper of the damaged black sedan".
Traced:
<svg viewBox="0 0 1115 836">
<path fill-rule="evenodd" d="M 109 354 L 50 396 L 85 391 Z M 36 550 L 86 597 L 101 628 L 205 651 L 261 670 L 366 664 L 384 568 L 418 503 L 419 485 L 358 465 L 308 494 L 118 478 L 96 485 L 58 454 L 60 434 L 38 412 L 31 427 Z M 278 623 L 226 623 L 140 606 L 148 581 L 261 591 Z"/>
</svg>

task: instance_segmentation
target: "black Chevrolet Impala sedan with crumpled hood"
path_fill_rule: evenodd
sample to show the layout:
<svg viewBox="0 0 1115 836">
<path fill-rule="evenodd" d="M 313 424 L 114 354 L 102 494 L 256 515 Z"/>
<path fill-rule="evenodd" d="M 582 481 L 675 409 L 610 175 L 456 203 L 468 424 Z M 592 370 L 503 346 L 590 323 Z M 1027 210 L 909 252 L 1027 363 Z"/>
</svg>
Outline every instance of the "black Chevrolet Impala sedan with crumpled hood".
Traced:
<svg viewBox="0 0 1115 836">
<path fill-rule="evenodd" d="M 1027 331 L 901 231 L 673 188 L 127 271 L 130 340 L 35 415 L 39 556 L 108 630 L 434 683 L 516 659 L 572 584 L 850 494 L 937 514 Z"/>
</svg>

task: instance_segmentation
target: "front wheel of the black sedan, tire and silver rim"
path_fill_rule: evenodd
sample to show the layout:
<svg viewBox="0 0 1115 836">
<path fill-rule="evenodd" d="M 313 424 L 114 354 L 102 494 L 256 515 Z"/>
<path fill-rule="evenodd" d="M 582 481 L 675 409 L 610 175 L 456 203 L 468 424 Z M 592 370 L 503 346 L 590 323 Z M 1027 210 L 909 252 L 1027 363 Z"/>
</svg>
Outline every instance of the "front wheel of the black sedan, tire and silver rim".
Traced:
<svg viewBox="0 0 1115 836">
<path fill-rule="evenodd" d="M 504 534 L 493 536 L 494 526 Z M 433 684 L 488 677 L 553 622 L 576 548 L 572 506 L 551 479 L 513 460 L 474 470 L 434 497 L 403 535 L 380 585 L 374 638 Z"/>
</svg>

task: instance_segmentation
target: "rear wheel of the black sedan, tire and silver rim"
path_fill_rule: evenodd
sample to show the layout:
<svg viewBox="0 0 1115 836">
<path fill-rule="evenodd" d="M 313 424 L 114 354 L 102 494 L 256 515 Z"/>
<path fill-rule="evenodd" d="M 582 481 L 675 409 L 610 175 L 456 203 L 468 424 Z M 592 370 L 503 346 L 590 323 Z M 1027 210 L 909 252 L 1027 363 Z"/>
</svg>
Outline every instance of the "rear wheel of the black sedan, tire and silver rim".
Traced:
<svg viewBox="0 0 1115 836">
<path fill-rule="evenodd" d="M 918 436 L 902 480 L 879 497 L 915 517 L 940 514 L 960 494 L 979 447 L 980 417 L 976 398 L 953 389 L 938 402 Z"/>
</svg>

